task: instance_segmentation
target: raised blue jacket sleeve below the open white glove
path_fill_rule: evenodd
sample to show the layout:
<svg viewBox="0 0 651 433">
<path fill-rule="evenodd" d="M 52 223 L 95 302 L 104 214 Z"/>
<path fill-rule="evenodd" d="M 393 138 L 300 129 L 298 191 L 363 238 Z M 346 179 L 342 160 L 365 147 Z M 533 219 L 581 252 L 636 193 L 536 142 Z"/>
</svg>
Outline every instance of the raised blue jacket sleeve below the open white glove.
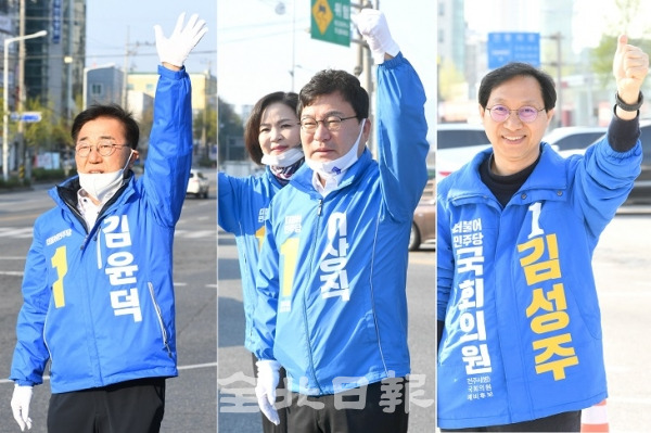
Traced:
<svg viewBox="0 0 651 433">
<path fill-rule="evenodd" d="M 157 222 L 173 227 L 181 216 L 192 165 L 192 91 L 184 68 L 158 66 L 158 74 L 143 184 Z"/>
</svg>

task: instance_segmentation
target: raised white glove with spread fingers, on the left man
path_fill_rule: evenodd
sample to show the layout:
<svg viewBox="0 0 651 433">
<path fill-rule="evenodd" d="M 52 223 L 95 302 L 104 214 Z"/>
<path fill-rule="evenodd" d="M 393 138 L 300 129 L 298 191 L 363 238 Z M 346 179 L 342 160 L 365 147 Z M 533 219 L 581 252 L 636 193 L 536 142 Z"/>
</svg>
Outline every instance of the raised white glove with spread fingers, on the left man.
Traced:
<svg viewBox="0 0 651 433">
<path fill-rule="evenodd" d="M 169 38 L 163 35 L 163 28 L 158 24 L 154 26 L 156 51 L 158 52 L 161 63 L 165 62 L 178 67 L 183 66 L 183 62 L 188 59 L 190 51 L 208 31 L 206 22 L 199 20 L 197 14 L 190 16 L 184 28 L 183 21 L 186 21 L 186 12 L 179 15 L 174 33 Z"/>
</svg>

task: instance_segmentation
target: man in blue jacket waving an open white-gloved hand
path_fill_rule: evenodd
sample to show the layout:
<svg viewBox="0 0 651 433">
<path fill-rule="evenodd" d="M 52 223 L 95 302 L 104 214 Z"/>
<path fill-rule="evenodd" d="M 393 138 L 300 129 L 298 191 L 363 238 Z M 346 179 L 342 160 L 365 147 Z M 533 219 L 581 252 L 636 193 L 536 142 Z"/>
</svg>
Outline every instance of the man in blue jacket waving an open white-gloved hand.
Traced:
<svg viewBox="0 0 651 433">
<path fill-rule="evenodd" d="M 155 26 L 162 65 L 144 175 L 139 128 L 117 105 L 73 123 L 79 176 L 50 191 L 56 207 L 34 227 L 10 379 L 21 430 L 50 362 L 48 431 L 157 432 L 165 379 L 178 375 L 173 241 L 190 165 L 192 107 L 183 67 L 207 31 L 181 14 L 169 38 Z"/>
</svg>

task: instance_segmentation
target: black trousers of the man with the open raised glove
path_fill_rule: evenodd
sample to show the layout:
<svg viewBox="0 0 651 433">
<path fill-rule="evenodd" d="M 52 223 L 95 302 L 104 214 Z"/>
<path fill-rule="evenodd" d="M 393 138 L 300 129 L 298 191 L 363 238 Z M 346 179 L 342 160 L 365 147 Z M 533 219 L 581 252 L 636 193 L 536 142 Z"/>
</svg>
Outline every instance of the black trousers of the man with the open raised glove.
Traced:
<svg viewBox="0 0 651 433">
<path fill-rule="evenodd" d="M 52 394 L 48 433 L 157 433 L 164 411 L 164 378 Z"/>
</svg>

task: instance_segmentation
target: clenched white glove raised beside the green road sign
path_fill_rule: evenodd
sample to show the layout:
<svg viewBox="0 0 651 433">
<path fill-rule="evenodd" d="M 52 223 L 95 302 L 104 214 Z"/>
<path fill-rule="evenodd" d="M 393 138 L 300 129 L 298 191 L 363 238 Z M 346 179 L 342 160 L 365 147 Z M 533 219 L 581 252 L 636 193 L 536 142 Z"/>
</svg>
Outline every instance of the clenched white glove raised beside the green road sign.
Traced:
<svg viewBox="0 0 651 433">
<path fill-rule="evenodd" d="M 400 48 L 391 37 L 388 24 L 381 11 L 366 8 L 359 14 L 352 15 L 350 20 L 369 44 L 375 64 L 384 63 L 385 53 L 394 58 L 398 55 Z"/>
</svg>

